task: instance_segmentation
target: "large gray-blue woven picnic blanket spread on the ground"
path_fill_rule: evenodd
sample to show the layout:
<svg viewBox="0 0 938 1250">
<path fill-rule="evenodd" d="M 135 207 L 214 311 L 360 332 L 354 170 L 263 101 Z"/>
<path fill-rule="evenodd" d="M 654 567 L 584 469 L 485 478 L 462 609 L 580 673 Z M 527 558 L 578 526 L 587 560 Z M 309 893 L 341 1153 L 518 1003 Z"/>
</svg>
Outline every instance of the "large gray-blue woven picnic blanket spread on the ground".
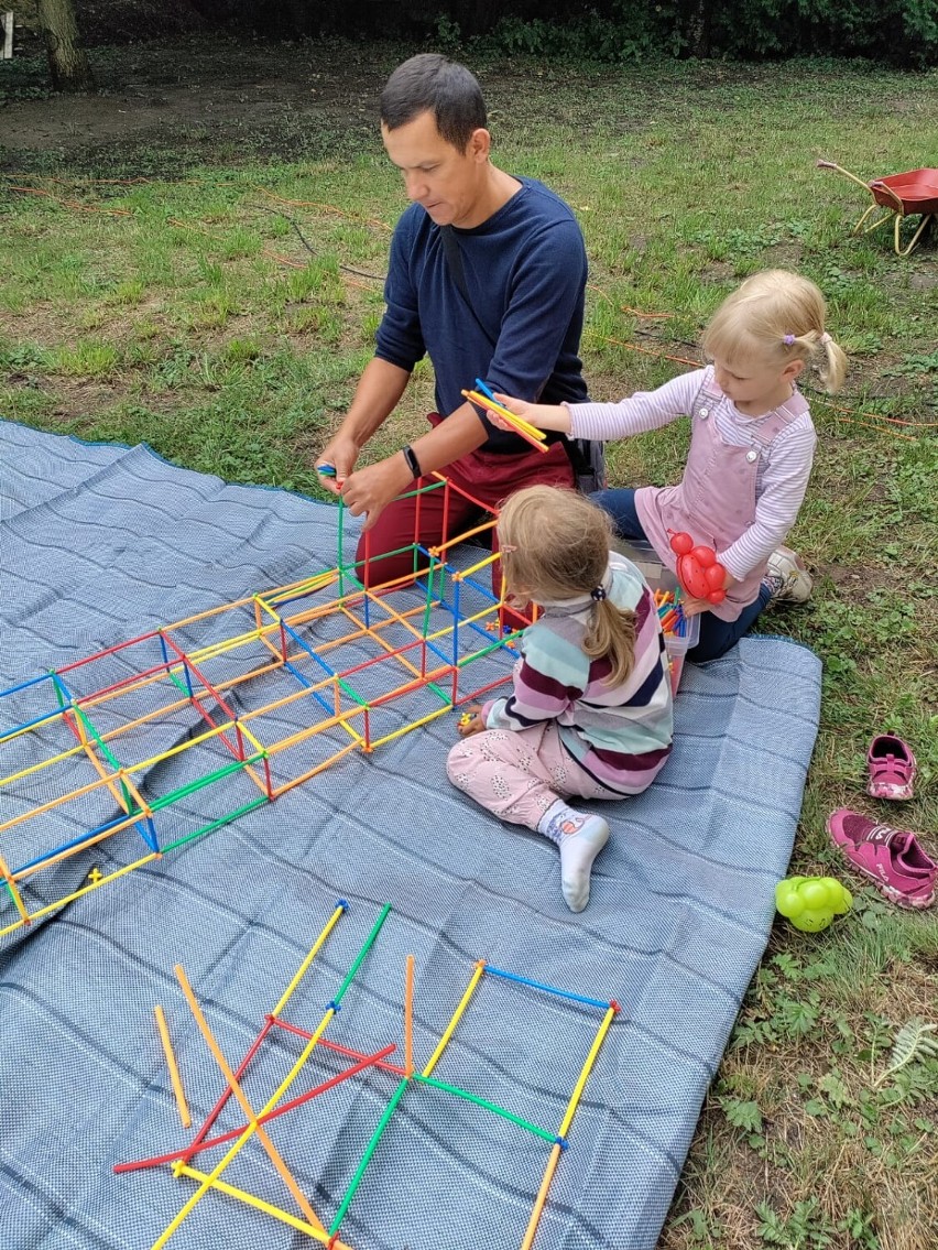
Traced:
<svg viewBox="0 0 938 1250">
<path fill-rule="evenodd" d="M 226 485 L 145 446 L 85 444 L 10 422 L 0 436 L 4 731 L 55 706 L 50 670 L 71 666 L 65 678 L 87 692 L 87 670 L 75 666 L 82 658 L 336 562 L 335 508 Z M 347 550 L 355 528 L 348 519 Z M 111 680 L 126 676 L 126 649 L 114 654 Z M 511 662 L 505 652 L 485 660 L 496 676 Z M 501 824 L 450 786 L 452 712 L 370 754 L 352 750 L 257 804 L 244 769 L 186 789 L 194 752 L 165 752 L 197 731 L 191 709 L 150 719 L 152 708 L 135 709 L 144 718 L 137 758 L 162 754 L 146 772 L 149 792 L 179 796 L 154 816 L 164 821 L 160 845 L 179 845 L 0 938 L 0 1245 L 144 1250 L 196 1192 L 169 1238 L 179 1250 L 320 1244 L 327 1234 L 311 1240 L 241 1196 L 306 1220 L 276 1155 L 326 1229 L 341 1212 L 336 1235 L 353 1250 L 520 1246 L 548 1139 L 565 1122 L 603 1005 L 615 1001 L 535 1248 L 653 1246 L 766 946 L 817 732 L 819 668 L 807 649 L 768 636 L 744 639 L 707 666 L 687 665 L 673 758 L 644 795 L 603 806 L 613 836 L 577 916 L 563 905 L 552 844 Z M 277 731 L 301 729 L 304 709 L 304 700 L 285 704 Z M 221 716 L 217 706 L 206 711 Z M 387 732 L 398 712 L 390 704 L 382 714 Z M 70 792 L 95 776 L 81 749 L 67 754 L 76 738 L 62 720 L 0 741 L 2 776 L 15 779 L 0 788 L 0 824 L 50 805 L 0 832 L 10 871 L 121 815 L 105 785 L 56 804 L 62 786 Z M 230 754 L 217 735 L 209 749 L 224 772 Z M 30 771 L 56 752 L 64 759 L 55 768 Z M 299 775 L 307 762 L 290 766 Z M 241 815 L 229 820 L 235 810 Z M 209 831 L 185 840 L 200 829 Z M 24 898 L 40 908 L 80 890 L 89 872 L 110 874 L 147 854 L 147 829 L 122 829 L 44 866 Z M 338 919 L 280 1006 L 340 900 Z M 0 928 L 16 919 L 4 890 Z M 396 1050 L 383 1062 L 405 1064 L 408 955 L 418 1072 L 477 961 L 521 980 L 485 971 L 433 1065 L 441 1085 L 410 1081 L 401 1094 L 395 1068 L 346 1072 L 355 1056 L 388 1045 Z M 189 1155 L 189 1174 L 166 1164 L 114 1171 L 181 1152 L 226 1089 L 176 965 L 231 1068 L 275 1009 L 291 1025 L 267 1024 L 244 1069 L 252 1114 L 297 1068 L 326 1015 L 322 1038 L 345 1048 L 315 1046 L 299 1065 L 284 1099 L 341 1080 L 270 1120 L 266 1142 L 256 1131 L 242 1139 L 216 1178 L 227 1190 L 199 1178 L 212 1174 L 236 1136 Z M 180 1122 L 156 1005 L 190 1130 Z M 229 1099 L 211 1134 L 245 1122 Z"/>
</svg>

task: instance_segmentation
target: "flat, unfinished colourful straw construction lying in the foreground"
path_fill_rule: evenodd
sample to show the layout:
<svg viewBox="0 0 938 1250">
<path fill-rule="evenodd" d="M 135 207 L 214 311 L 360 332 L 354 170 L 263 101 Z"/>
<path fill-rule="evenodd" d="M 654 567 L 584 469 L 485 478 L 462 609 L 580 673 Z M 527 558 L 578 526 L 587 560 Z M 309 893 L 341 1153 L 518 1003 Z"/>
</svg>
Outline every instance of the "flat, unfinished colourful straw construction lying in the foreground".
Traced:
<svg viewBox="0 0 938 1250">
<path fill-rule="evenodd" d="M 412 1066 L 415 959 L 412 955 L 408 955 L 406 958 L 405 985 L 402 995 L 405 1068 L 401 1069 L 393 1064 L 387 1062 L 387 1055 L 390 1055 L 395 1050 L 393 1044 L 388 1044 L 382 1049 L 373 1051 L 372 1054 L 363 1054 L 348 1046 L 340 1046 L 336 1042 L 331 1042 L 323 1036 L 328 1024 L 335 1019 L 336 1012 L 340 1010 L 346 991 L 352 985 L 362 964 L 365 962 L 372 948 L 375 946 L 376 941 L 378 940 L 381 930 L 391 912 L 390 905 L 385 905 L 381 909 L 377 919 L 375 920 L 371 928 L 371 931 L 362 942 L 357 956 L 352 961 L 338 990 L 333 995 L 332 1000 L 328 1002 L 326 1008 L 326 1014 L 322 1018 L 320 1025 L 315 1029 L 315 1031 L 310 1032 L 296 1025 L 289 1024 L 286 1020 L 281 1020 L 279 1018 L 279 1012 L 287 1006 L 290 999 L 301 986 L 302 980 L 306 976 L 307 971 L 310 970 L 316 954 L 322 949 L 327 938 L 332 932 L 336 922 L 340 920 L 341 916 L 346 915 L 346 911 L 347 911 L 347 904 L 345 902 L 345 900 L 340 900 L 338 904 L 336 905 L 336 910 L 333 911 L 332 916 L 327 921 L 322 932 L 317 938 L 312 949 L 307 954 L 301 968 L 290 981 L 285 992 L 281 995 L 277 1002 L 277 1010 L 265 1018 L 265 1024 L 261 1031 L 259 1032 L 254 1044 L 249 1048 L 247 1054 L 245 1055 L 245 1058 L 242 1059 L 241 1064 L 236 1070 L 232 1070 L 230 1068 L 224 1055 L 221 1054 L 221 1049 L 219 1048 L 219 1044 L 214 1038 L 211 1028 L 209 1026 L 209 1022 L 205 1019 L 205 1015 L 202 1014 L 202 1010 L 196 1000 L 192 988 L 189 985 L 185 972 L 182 971 L 181 968 L 176 969 L 180 989 L 190 1005 L 192 1015 L 199 1025 L 199 1030 L 202 1034 L 206 1045 L 209 1046 L 209 1049 L 211 1050 L 212 1055 L 216 1059 L 216 1062 L 225 1080 L 225 1088 L 222 1090 L 221 1098 L 217 1100 L 212 1111 L 209 1114 L 205 1122 L 202 1124 L 202 1128 L 199 1130 L 199 1132 L 196 1132 L 195 1139 L 189 1145 L 181 1146 L 175 1151 L 164 1152 L 161 1155 L 154 1155 L 149 1159 L 139 1159 L 139 1160 L 120 1162 L 116 1164 L 114 1168 L 115 1172 L 125 1172 L 125 1171 L 141 1171 L 169 1165 L 171 1174 L 176 1179 L 195 1182 L 196 1186 L 195 1191 L 184 1202 L 182 1208 L 180 1209 L 177 1215 L 170 1221 L 164 1232 L 156 1239 L 152 1250 L 160 1250 L 160 1248 L 166 1245 L 166 1242 L 179 1230 L 181 1224 L 191 1214 L 195 1206 L 202 1199 L 205 1199 L 210 1192 L 217 1195 L 217 1200 L 221 1199 L 234 1200 L 242 1202 L 247 1206 L 251 1206 L 252 1209 L 264 1212 L 271 1219 L 277 1220 L 281 1224 L 286 1224 L 289 1228 L 296 1230 L 297 1232 L 302 1232 L 310 1240 L 316 1241 L 320 1245 L 331 1248 L 331 1250 L 356 1250 L 355 1246 L 350 1246 L 346 1241 L 341 1241 L 338 1239 L 338 1231 L 342 1224 L 345 1222 L 346 1215 L 350 1208 L 352 1206 L 360 1188 L 363 1184 L 367 1184 L 368 1170 L 372 1166 L 376 1166 L 375 1160 L 377 1158 L 381 1158 L 382 1160 L 381 1166 L 385 1169 L 385 1171 L 388 1166 L 393 1166 L 392 1160 L 388 1158 L 387 1144 L 383 1142 L 382 1145 L 382 1141 L 388 1130 L 388 1126 L 395 1120 L 395 1115 L 397 1114 L 400 1104 L 403 1101 L 405 1098 L 412 1098 L 412 1099 L 456 1098 L 461 1100 L 467 1100 L 475 1106 L 481 1108 L 483 1111 L 497 1116 L 506 1124 L 513 1125 L 515 1128 L 518 1129 L 523 1129 L 525 1131 L 532 1134 L 536 1139 L 545 1142 L 550 1142 L 551 1150 L 550 1154 L 547 1155 L 543 1176 L 538 1186 L 537 1194 L 532 1195 L 533 1208 L 527 1222 L 526 1231 L 523 1234 L 523 1240 L 521 1240 L 520 1242 L 521 1250 L 530 1250 L 530 1248 L 533 1245 L 537 1234 L 538 1221 L 541 1219 L 541 1214 L 548 1199 L 550 1186 L 555 1171 L 557 1169 L 560 1156 L 571 1145 L 567 1135 L 570 1132 L 573 1116 L 582 1099 L 583 1090 L 586 1088 L 586 1082 L 590 1078 L 590 1074 L 597 1062 L 600 1050 L 602 1048 L 602 1042 L 606 1038 L 606 1034 L 608 1032 L 612 1021 L 615 1020 L 616 1015 L 620 1011 L 618 1004 L 615 1001 L 605 1001 L 602 999 L 590 998 L 586 995 L 575 994 L 570 990 L 545 985 L 541 981 L 533 981 L 528 978 L 521 976 L 515 972 L 508 972 L 502 969 L 491 968 L 487 966 L 483 961 L 480 961 L 476 964 L 472 976 L 470 978 L 468 985 L 466 986 L 466 990 L 463 991 L 462 998 L 460 999 L 460 1002 L 456 1006 L 456 1010 L 453 1011 L 448 1024 L 443 1029 L 440 1041 L 433 1049 L 426 1066 L 423 1068 L 423 1071 L 418 1072 Z M 585 1006 L 602 1011 L 601 1021 L 593 1036 L 588 1054 L 586 1055 L 586 1059 L 580 1070 L 580 1076 L 576 1081 L 573 1091 L 567 1101 L 563 1118 L 557 1129 L 543 1128 L 541 1125 L 533 1124 L 523 1119 L 522 1116 L 516 1115 L 515 1112 L 507 1110 L 506 1108 L 498 1106 L 490 1099 L 482 1098 L 481 1095 L 475 1094 L 470 1090 L 461 1089 L 460 1086 L 453 1085 L 451 1082 L 436 1080 L 435 1078 L 431 1076 L 433 1068 L 437 1065 L 441 1056 L 443 1055 L 461 1019 L 463 1018 L 471 1002 L 473 1001 L 475 996 L 477 995 L 478 986 L 483 980 L 483 978 L 486 976 L 486 974 L 488 974 L 496 981 L 497 980 L 512 981 L 515 985 L 523 988 L 523 990 L 530 989 L 538 994 L 551 994 L 557 999 L 571 1001 L 572 1004 L 577 1004 L 578 1005 L 577 1009 L 581 1011 Z M 241 1081 L 246 1069 L 255 1060 L 255 1056 L 264 1045 L 264 1041 L 267 1039 L 271 1029 L 284 1029 L 290 1034 L 295 1034 L 300 1038 L 304 1038 L 306 1040 L 306 1045 L 304 1046 L 300 1056 L 294 1061 L 286 1078 L 281 1081 L 277 1090 L 267 1100 L 262 1110 L 255 1111 L 251 1108 L 244 1092 L 244 1086 Z M 310 1062 L 315 1062 L 317 1054 L 321 1052 L 321 1050 L 323 1049 L 353 1059 L 355 1062 L 346 1070 L 337 1072 L 330 1079 L 316 1085 L 313 1089 L 307 1090 L 305 1094 L 290 1099 L 286 1102 L 281 1102 L 281 1099 L 284 1098 L 289 1088 L 300 1078 L 306 1065 Z M 492 1058 L 497 1060 L 497 1056 Z M 347 1081 L 352 1078 L 367 1080 L 368 1074 L 373 1072 L 375 1070 L 385 1070 L 387 1072 L 393 1072 L 398 1076 L 398 1080 L 393 1088 L 393 1091 L 390 1094 L 390 1098 L 387 1098 L 383 1110 L 377 1118 L 375 1128 L 371 1131 L 371 1136 L 368 1138 L 361 1152 L 358 1162 L 357 1165 L 353 1166 L 351 1180 L 346 1185 L 346 1189 L 342 1192 L 341 1198 L 337 1199 L 335 1204 L 335 1214 L 332 1215 L 331 1220 L 328 1221 L 328 1225 L 326 1226 L 326 1221 L 320 1216 L 320 1214 L 313 1211 L 309 1200 L 300 1190 L 290 1170 L 290 1166 L 285 1161 L 284 1156 L 280 1154 L 280 1151 L 277 1151 L 272 1146 L 270 1139 L 266 1138 L 262 1125 L 272 1119 L 284 1116 L 287 1112 L 296 1115 L 299 1114 L 301 1108 L 309 1106 L 312 1099 L 327 1096 L 330 1090 L 335 1089 L 341 1082 Z M 236 1101 L 241 1104 L 241 1109 L 244 1110 L 247 1118 L 247 1122 L 239 1129 L 232 1129 L 215 1138 L 209 1138 L 209 1131 L 211 1129 L 211 1125 L 214 1124 L 215 1119 L 217 1118 L 217 1115 L 220 1114 L 220 1111 L 222 1110 L 225 1102 L 230 1096 L 234 1096 Z M 295 1202 L 300 1208 L 299 1215 L 284 1210 L 281 1206 L 276 1205 L 276 1202 L 271 1201 L 269 1198 L 262 1199 L 259 1195 L 250 1192 L 247 1189 L 242 1186 L 232 1185 L 230 1181 L 222 1180 L 222 1172 L 225 1171 L 225 1169 L 229 1166 L 231 1161 L 234 1161 L 234 1159 L 237 1156 L 241 1149 L 249 1142 L 249 1140 L 254 1135 L 257 1135 L 259 1140 L 267 1151 L 269 1159 L 271 1160 L 274 1168 L 279 1172 L 280 1179 L 285 1186 L 285 1190 L 287 1190 L 292 1195 Z M 285 1138 L 282 1130 L 279 1138 L 281 1142 L 286 1142 L 284 1145 L 284 1150 L 286 1152 L 290 1152 L 291 1144 Z M 219 1145 L 230 1141 L 234 1144 L 230 1146 L 225 1156 L 211 1169 L 211 1171 L 192 1165 L 192 1159 L 196 1154 L 211 1150 L 212 1148 L 216 1148 Z M 297 1136 L 296 1154 L 300 1161 L 305 1160 L 309 1156 L 309 1145 L 304 1144 L 302 1136 Z M 322 1186 L 320 1186 L 318 1189 L 320 1191 L 322 1191 Z M 411 1208 L 415 1202 L 420 1201 L 421 1190 L 422 1186 L 420 1184 L 418 1172 L 415 1172 L 411 1165 L 411 1171 L 406 1176 L 405 1182 L 401 1186 L 401 1201 L 407 1204 L 407 1208 Z M 432 1186 L 430 1188 L 430 1192 L 433 1192 Z M 467 1218 L 477 1220 L 480 1219 L 480 1212 L 467 1211 Z M 485 1218 L 483 1214 L 481 1218 L 482 1219 Z M 391 1231 L 392 1231 L 391 1229 L 387 1230 L 388 1234 Z M 518 1232 L 520 1231 L 521 1230 L 518 1230 Z M 480 1228 L 480 1244 L 482 1244 L 483 1241 L 485 1241 L 485 1228 Z"/>
</svg>

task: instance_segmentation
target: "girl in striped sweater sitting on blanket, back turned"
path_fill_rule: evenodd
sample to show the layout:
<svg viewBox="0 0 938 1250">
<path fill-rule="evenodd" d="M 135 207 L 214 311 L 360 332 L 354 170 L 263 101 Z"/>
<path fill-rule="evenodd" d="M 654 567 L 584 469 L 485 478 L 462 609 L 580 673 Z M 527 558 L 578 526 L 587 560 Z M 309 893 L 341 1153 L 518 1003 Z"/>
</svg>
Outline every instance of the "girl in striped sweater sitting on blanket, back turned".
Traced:
<svg viewBox="0 0 938 1250">
<path fill-rule="evenodd" d="M 571 911 L 590 900 L 610 826 L 566 799 L 641 794 L 673 735 L 654 599 L 611 541 L 607 514 L 572 490 L 531 486 L 502 506 L 508 595 L 541 615 L 522 635 L 512 694 L 463 718 L 447 760 L 450 780 L 476 802 L 557 844 Z"/>
</svg>

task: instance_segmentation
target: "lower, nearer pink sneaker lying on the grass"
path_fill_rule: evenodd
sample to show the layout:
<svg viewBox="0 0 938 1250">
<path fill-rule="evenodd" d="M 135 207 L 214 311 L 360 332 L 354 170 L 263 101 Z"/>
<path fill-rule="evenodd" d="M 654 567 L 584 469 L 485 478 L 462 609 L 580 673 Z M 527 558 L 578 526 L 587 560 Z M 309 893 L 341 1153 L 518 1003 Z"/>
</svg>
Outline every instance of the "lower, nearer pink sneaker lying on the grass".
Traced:
<svg viewBox="0 0 938 1250">
<path fill-rule="evenodd" d="M 877 825 L 868 816 L 838 808 L 827 820 L 831 841 L 851 864 L 901 908 L 931 908 L 938 865 L 907 829 Z"/>
</svg>

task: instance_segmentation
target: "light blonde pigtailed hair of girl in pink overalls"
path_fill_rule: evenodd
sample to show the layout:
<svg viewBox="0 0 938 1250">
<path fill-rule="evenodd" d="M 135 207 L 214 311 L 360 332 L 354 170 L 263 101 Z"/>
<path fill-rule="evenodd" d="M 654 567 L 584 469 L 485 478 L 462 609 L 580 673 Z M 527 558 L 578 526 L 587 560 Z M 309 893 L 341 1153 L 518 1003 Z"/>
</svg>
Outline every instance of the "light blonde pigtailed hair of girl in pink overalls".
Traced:
<svg viewBox="0 0 938 1250">
<path fill-rule="evenodd" d="M 787 269 L 747 278 L 723 300 L 703 335 L 703 350 L 729 368 L 753 358 L 816 365 L 828 392 L 841 389 L 847 356 L 824 330 L 827 305 L 818 288 Z"/>
</svg>

